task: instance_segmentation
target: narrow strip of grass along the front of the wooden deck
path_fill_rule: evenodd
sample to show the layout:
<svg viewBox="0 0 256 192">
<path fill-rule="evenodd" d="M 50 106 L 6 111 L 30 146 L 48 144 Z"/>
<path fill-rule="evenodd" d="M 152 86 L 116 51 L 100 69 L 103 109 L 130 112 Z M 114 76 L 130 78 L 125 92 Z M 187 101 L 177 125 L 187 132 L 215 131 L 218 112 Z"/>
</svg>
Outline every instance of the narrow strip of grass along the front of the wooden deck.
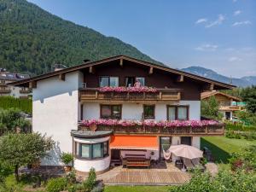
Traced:
<svg viewBox="0 0 256 192">
<path fill-rule="evenodd" d="M 104 192 L 167 192 L 170 186 L 106 186 Z"/>
</svg>

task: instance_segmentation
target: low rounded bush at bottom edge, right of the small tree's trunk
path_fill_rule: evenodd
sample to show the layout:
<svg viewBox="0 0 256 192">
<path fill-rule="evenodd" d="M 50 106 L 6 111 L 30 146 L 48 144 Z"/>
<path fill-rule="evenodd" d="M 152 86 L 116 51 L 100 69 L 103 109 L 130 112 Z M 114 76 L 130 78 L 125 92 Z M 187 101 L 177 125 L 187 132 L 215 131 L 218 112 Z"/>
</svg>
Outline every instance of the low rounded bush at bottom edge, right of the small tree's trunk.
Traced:
<svg viewBox="0 0 256 192">
<path fill-rule="evenodd" d="M 67 179 L 65 177 L 51 178 L 46 185 L 46 190 L 48 192 L 60 192 L 66 188 Z"/>
</svg>

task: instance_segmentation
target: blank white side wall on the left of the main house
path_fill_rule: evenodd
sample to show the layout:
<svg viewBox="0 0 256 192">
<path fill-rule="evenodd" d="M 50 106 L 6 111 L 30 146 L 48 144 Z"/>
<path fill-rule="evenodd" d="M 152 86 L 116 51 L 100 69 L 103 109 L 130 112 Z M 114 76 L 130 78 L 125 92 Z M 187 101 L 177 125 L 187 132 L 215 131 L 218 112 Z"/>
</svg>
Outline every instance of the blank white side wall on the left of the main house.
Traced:
<svg viewBox="0 0 256 192">
<path fill-rule="evenodd" d="M 78 128 L 79 79 L 82 73 L 67 73 L 65 81 L 52 77 L 37 82 L 32 96 L 33 131 L 55 140 L 50 158 L 41 160 L 42 166 L 62 165 L 59 154 L 72 152 L 71 130 Z"/>
</svg>

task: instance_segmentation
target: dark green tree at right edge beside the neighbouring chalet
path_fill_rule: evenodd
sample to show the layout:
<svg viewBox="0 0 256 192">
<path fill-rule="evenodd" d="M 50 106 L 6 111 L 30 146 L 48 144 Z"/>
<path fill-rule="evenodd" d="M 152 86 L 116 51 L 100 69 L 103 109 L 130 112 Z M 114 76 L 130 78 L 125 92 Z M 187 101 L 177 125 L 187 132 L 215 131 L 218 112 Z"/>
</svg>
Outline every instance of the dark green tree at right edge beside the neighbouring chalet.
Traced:
<svg viewBox="0 0 256 192">
<path fill-rule="evenodd" d="M 241 92 L 243 102 L 246 102 L 246 108 L 251 113 L 256 113 L 256 86 L 247 87 Z"/>
</svg>

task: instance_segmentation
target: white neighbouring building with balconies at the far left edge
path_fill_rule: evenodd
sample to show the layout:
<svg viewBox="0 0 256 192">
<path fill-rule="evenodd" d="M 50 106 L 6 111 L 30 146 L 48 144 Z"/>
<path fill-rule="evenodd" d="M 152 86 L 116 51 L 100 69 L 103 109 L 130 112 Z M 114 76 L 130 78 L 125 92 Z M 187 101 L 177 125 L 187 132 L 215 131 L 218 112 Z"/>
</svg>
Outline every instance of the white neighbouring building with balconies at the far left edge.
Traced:
<svg viewBox="0 0 256 192">
<path fill-rule="evenodd" d="M 32 90 L 25 87 L 8 85 L 9 83 L 28 79 L 29 75 L 20 73 L 10 73 L 4 68 L 0 68 L 0 96 L 15 96 L 16 98 L 27 98 L 32 95 Z"/>
</svg>

